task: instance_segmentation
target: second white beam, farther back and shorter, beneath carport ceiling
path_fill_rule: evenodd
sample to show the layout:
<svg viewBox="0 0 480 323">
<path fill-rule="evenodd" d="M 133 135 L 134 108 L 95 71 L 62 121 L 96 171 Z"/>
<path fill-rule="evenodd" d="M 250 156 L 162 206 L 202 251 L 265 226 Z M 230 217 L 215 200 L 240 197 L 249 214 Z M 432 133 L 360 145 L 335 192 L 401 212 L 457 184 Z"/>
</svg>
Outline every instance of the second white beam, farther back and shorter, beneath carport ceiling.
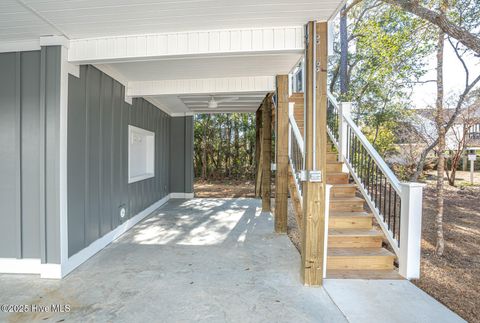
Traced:
<svg viewBox="0 0 480 323">
<path fill-rule="evenodd" d="M 128 82 L 127 95 L 145 97 L 171 94 L 209 94 L 272 92 L 274 76 L 226 77 L 186 80 L 159 80 Z"/>
</svg>

